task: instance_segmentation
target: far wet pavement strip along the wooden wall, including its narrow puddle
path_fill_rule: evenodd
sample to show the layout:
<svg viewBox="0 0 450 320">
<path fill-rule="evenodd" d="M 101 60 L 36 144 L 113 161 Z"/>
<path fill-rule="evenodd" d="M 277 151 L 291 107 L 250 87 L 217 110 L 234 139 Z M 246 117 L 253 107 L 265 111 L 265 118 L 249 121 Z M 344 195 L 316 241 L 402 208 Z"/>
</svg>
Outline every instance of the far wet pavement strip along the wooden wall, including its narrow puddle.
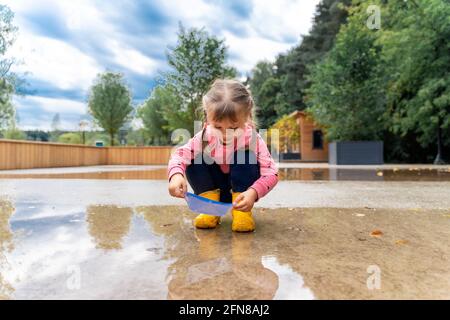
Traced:
<svg viewBox="0 0 450 320">
<path fill-rule="evenodd" d="M 94 166 L 0 170 L 0 179 L 166 180 L 164 166 Z M 331 166 L 281 164 L 280 180 L 293 181 L 450 181 L 450 166 Z"/>
</svg>

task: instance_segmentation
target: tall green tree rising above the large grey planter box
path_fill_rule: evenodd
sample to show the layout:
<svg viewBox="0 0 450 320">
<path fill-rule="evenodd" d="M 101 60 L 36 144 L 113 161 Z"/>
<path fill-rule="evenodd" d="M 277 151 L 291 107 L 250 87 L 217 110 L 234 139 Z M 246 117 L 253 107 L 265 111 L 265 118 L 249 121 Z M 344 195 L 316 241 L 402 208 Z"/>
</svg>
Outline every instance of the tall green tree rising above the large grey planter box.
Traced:
<svg viewBox="0 0 450 320">
<path fill-rule="evenodd" d="M 327 57 L 312 67 L 308 110 L 329 140 L 380 139 L 385 129 L 385 77 L 379 34 L 366 27 L 368 4 L 357 6 Z"/>
</svg>

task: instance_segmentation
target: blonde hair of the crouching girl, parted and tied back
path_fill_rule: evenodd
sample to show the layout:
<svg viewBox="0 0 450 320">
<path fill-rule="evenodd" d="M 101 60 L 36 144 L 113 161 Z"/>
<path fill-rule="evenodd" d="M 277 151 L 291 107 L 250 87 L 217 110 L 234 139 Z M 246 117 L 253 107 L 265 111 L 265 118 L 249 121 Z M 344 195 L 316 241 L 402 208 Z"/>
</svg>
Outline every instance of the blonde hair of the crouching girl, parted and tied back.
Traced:
<svg viewBox="0 0 450 320">
<path fill-rule="evenodd" d="M 214 121 L 228 119 L 237 122 L 243 115 L 247 118 L 246 122 L 256 126 L 253 97 L 250 90 L 237 80 L 216 79 L 202 102 L 205 120 L 210 115 Z"/>
</svg>

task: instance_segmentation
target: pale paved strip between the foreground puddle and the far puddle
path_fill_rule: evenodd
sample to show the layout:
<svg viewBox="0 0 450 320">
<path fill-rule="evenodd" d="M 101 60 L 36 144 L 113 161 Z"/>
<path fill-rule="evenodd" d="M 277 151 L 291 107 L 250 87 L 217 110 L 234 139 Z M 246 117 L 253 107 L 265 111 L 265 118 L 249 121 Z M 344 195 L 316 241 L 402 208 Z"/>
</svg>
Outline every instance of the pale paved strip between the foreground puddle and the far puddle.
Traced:
<svg viewBox="0 0 450 320">
<path fill-rule="evenodd" d="M 162 180 L 0 179 L 0 194 L 30 205 L 184 205 Z M 257 206 L 448 209 L 449 194 L 445 181 L 280 181 Z"/>
</svg>

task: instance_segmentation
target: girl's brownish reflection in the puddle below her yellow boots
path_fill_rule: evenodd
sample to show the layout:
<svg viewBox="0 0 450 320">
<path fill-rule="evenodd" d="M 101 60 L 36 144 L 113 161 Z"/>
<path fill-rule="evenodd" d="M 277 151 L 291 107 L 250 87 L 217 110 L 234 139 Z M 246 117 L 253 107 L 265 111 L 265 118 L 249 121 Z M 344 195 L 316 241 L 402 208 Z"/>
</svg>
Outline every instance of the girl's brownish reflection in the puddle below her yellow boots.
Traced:
<svg viewBox="0 0 450 320">
<path fill-rule="evenodd" d="M 168 299 L 273 298 L 278 278 L 262 265 L 254 234 L 231 234 L 226 227 L 194 230 L 192 214 L 171 209 L 137 209 L 154 233 L 164 235 L 166 256 L 176 259 L 169 268 Z"/>
</svg>

